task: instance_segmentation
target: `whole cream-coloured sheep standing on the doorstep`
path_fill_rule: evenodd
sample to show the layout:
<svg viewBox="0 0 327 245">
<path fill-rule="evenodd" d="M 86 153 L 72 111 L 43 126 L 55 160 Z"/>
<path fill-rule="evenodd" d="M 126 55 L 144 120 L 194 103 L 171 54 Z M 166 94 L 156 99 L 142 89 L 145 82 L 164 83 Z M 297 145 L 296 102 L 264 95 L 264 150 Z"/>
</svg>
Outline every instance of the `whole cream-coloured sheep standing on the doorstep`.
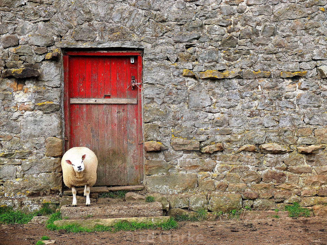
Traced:
<svg viewBox="0 0 327 245">
<path fill-rule="evenodd" d="M 77 206 L 76 186 L 84 187 L 85 206 L 90 206 L 90 187 L 96 182 L 98 159 L 93 151 L 87 147 L 73 147 L 61 159 L 63 182 L 72 189 L 73 203 Z"/>
</svg>

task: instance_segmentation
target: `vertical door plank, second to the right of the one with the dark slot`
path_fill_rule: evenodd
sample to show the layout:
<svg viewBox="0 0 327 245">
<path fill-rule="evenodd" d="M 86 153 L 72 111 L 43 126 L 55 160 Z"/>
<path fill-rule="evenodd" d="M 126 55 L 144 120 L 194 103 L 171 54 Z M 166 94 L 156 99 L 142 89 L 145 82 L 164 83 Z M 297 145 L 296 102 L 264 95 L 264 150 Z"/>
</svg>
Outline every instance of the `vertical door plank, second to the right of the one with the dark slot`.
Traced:
<svg viewBox="0 0 327 245">
<path fill-rule="evenodd" d="M 123 57 L 117 58 L 117 98 L 123 97 L 124 82 Z M 124 182 L 124 116 L 123 105 L 117 105 L 117 130 L 118 130 L 118 183 Z"/>
</svg>

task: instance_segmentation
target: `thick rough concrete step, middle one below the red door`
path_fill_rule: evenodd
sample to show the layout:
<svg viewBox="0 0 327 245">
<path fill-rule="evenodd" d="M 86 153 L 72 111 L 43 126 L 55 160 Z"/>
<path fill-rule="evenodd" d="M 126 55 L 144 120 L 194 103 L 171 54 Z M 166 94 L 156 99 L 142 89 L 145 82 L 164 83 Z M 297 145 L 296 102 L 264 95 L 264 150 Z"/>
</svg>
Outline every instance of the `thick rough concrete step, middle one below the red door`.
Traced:
<svg viewBox="0 0 327 245">
<path fill-rule="evenodd" d="M 68 219 L 122 218 L 162 216 L 162 204 L 117 202 L 109 204 L 91 204 L 91 206 L 64 205 L 60 208 L 61 217 Z"/>
</svg>

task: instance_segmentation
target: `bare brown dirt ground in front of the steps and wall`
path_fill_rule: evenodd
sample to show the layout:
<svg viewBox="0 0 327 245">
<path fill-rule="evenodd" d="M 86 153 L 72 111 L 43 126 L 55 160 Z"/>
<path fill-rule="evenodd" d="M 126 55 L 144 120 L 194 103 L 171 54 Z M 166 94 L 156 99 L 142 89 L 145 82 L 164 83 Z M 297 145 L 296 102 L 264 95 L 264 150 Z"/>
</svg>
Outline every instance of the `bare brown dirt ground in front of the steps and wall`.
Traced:
<svg viewBox="0 0 327 245">
<path fill-rule="evenodd" d="M 179 228 L 171 231 L 78 234 L 47 231 L 44 225 L 0 225 L 0 245 L 32 245 L 45 235 L 56 240 L 58 245 L 327 245 L 327 219 L 179 222 Z"/>
</svg>

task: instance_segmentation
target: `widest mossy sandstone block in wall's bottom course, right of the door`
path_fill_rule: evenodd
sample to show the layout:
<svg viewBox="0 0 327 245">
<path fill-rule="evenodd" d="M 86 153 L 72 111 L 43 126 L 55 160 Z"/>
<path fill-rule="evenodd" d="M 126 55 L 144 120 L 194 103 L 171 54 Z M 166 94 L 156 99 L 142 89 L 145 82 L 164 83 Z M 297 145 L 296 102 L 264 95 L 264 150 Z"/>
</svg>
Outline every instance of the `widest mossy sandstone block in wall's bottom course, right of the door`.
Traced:
<svg viewBox="0 0 327 245">
<path fill-rule="evenodd" d="M 242 208 L 242 196 L 240 194 L 212 194 L 209 198 L 208 209 L 210 211 L 229 212 L 233 209 L 240 210 Z"/>
</svg>

